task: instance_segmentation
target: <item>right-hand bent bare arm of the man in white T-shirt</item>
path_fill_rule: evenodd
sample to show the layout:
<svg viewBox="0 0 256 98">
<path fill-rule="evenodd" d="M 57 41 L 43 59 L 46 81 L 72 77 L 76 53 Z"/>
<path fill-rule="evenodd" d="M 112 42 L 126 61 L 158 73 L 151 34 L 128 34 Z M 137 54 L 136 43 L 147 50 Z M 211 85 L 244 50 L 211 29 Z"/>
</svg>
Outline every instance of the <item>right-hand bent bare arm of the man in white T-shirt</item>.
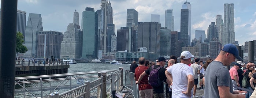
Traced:
<svg viewBox="0 0 256 98">
<path fill-rule="evenodd" d="M 194 86 L 194 76 L 188 75 L 188 88 L 187 91 L 182 91 L 181 93 L 191 96 L 191 90 Z"/>
</svg>

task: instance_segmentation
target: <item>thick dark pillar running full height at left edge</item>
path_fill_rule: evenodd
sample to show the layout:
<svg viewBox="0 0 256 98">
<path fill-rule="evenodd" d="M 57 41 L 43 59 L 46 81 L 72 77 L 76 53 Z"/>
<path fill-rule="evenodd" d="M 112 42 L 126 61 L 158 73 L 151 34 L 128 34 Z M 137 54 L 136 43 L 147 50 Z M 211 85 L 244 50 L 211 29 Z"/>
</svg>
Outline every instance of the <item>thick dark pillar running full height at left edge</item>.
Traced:
<svg viewBox="0 0 256 98">
<path fill-rule="evenodd" d="M 1 0 L 0 98 L 14 98 L 17 0 Z"/>
</svg>

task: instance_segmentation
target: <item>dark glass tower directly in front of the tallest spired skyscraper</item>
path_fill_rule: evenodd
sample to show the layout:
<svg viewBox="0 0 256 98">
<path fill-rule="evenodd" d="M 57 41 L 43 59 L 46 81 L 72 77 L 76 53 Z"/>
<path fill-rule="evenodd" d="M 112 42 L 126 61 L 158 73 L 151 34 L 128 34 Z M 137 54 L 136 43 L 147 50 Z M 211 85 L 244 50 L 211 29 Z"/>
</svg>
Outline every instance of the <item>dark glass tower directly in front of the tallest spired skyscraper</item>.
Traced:
<svg viewBox="0 0 256 98">
<path fill-rule="evenodd" d="M 189 9 L 181 9 L 181 47 L 189 46 Z"/>
</svg>

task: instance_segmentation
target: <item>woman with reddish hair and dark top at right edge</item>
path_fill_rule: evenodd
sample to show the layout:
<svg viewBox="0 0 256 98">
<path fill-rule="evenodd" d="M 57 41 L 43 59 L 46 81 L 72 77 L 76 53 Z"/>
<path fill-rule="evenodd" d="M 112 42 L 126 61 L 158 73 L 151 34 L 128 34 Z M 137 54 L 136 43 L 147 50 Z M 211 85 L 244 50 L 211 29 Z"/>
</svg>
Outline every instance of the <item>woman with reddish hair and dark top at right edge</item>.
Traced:
<svg viewBox="0 0 256 98">
<path fill-rule="evenodd" d="M 245 88 L 249 89 L 249 90 L 253 90 L 252 87 L 250 86 L 250 79 L 252 78 L 252 75 L 253 75 L 252 71 L 254 70 L 254 68 L 255 68 L 255 64 L 253 64 L 253 63 L 246 64 L 247 71 L 245 72 L 245 76 L 247 78 L 248 83 Z M 249 98 L 251 95 L 252 95 L 252 92 L 247 91 L 245 98 Z"/>
</svg>

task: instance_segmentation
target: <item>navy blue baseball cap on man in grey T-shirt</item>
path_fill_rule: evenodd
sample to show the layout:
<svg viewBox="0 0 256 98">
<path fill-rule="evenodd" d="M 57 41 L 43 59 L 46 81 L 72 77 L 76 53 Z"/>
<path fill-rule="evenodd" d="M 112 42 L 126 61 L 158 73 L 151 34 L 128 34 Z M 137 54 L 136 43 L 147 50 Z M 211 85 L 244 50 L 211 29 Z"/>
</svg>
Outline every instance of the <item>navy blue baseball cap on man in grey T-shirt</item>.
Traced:
<svg viewBox="0 0 256 98">
<path fill-rule="evenodd" d="M 233 54 L 235 56 L 235 58 L 238 60 L 242 60 L 242 58 L 240 56 L 238 56 L 237 47 L 233 44 L 226 44 L 223 46 L 223 48 L 221 50 Z"/>
</svg>

